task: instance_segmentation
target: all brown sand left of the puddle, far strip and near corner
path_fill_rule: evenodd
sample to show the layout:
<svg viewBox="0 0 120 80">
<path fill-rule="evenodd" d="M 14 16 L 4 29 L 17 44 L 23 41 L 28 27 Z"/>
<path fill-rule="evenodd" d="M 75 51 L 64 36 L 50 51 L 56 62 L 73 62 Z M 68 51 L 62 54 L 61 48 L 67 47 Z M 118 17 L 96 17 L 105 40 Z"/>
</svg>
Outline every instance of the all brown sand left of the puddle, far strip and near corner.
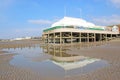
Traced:
<svg viewBox="0 0 120 80">
<path fill-rule="evenodd" d="M 8 52 L 2 49 L 31 47 L 33 44 L 40 44 L 40 41 L 11 41 L 0 42 L 0 80 L 41 80 L 39 73 L 30 69 L 18 68 L 9 64 L 14 54 L 6 54 Z"/>
</svg>

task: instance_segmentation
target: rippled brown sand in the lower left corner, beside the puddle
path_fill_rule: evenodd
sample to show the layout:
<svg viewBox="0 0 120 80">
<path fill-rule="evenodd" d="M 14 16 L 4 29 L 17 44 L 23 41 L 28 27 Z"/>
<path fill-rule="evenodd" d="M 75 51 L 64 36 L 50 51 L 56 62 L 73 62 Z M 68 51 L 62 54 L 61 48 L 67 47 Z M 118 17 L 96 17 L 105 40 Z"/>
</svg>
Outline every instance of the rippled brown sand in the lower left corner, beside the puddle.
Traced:
<svg viewBox="0 0 120 80">
<path fill-rule="evenodd" d="M 0 51 L 0 80 L 41 80 L 39 74 L 29 69 L 18 68 L 9 64 L 14 54 Z"/>
</svg>

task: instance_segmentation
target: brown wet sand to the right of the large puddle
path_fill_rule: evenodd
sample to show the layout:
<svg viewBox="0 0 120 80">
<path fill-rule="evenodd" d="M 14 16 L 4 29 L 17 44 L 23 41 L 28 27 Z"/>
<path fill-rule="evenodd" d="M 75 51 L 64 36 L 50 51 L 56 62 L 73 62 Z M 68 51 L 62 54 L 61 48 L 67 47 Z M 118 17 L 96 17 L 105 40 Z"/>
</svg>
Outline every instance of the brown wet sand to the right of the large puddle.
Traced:
<svg viewBox="0 0 120 80">
<path fill-rule="evenodd" d="M 108 61 L 110 65 L 87 74 L 67 77 L 67 80 L 120 80 L 120 40 L 83 50 L 72 48 L 68 53 L 99 58 Z"/>
</svg>

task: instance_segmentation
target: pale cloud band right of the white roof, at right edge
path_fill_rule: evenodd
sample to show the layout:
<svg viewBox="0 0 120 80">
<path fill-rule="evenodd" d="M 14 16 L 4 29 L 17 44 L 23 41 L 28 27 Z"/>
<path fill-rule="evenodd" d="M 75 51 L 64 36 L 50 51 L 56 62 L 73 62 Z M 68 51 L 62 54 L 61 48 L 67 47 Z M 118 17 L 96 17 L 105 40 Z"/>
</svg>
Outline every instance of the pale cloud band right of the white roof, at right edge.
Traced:
<svg viewBox="0 0 120 80">
<path fill-rule="evenodd" d="M 96 25 L 116 25 L 120 24 L 120 16 L 112 15 L 112 16 L 103 16 L 103 17 L 94 17 L 92 18 L 92 22 Z"/>
</svg>

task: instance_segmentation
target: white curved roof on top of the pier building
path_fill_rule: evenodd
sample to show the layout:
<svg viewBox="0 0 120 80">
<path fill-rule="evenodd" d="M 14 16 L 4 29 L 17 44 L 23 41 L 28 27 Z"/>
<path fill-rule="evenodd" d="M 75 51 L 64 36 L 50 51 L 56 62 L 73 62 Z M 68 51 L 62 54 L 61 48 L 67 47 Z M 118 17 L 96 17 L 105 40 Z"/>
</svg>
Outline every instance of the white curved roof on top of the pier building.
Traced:
<svg viewBox="0 0 120 80">
<path fill-rule="evenodd" d="M 87 22 L 80 18 L 64 17 L 58 22 L 52 24 L 52 27 L 55 26 L 83 26 L 83 27 L 95 27 L 95 24 Z"/>
</svg>

